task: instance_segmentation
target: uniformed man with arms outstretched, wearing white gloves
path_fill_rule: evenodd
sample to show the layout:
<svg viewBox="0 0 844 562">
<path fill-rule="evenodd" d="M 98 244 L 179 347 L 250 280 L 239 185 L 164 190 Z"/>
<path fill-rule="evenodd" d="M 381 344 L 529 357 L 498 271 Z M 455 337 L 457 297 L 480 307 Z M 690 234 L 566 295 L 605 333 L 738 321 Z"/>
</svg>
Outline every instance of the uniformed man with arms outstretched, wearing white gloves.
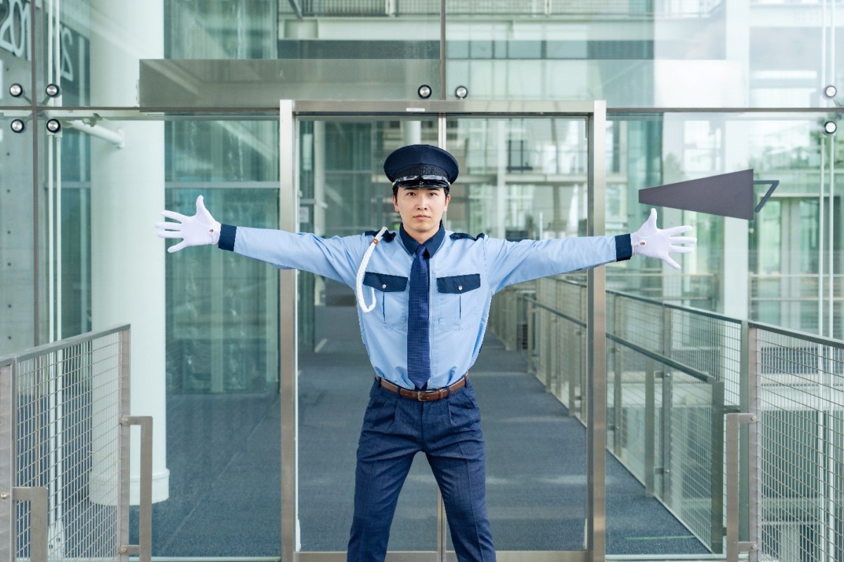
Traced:
<svg viewBox="0 0 844 562">
<path fill-rule="evenodd" d="M 445 150 L 410 145 L 384 162 L 397 233 L 320 238 L 219 224 L 197 198 L 197 213 L 165 211 L 168 251 L 221 249 L 311 271 L 357 289 L 360 330 L 375 370 L 357 452 L 348 560 L 387 553 L 392 516 L 414 455 L 425 452 L 440 487 L 457 559 L 495 560 L 486 514 L 484 439 L 468 370 L 478 357 L 490 300 L 507 285 L 629 259 L 688 252 L 695 239 L 659 230 L 656 212 L 632 235 L 511 242 L 444 229 L 441 219 L 457 179 Z M 366 286 L 369 295 L 363 291 Z M 368 296 L 368 299 L 367 299 Z M 369 302 L 367 302 L 367 300 Z"/>
</svg>

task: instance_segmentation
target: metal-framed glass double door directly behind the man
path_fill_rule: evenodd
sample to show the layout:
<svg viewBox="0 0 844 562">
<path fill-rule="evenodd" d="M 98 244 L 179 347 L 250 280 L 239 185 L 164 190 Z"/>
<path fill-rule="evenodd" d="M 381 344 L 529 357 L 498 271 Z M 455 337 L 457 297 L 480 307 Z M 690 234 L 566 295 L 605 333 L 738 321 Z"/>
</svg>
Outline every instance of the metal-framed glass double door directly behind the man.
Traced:
<svg viewBox="0 0 844 562">
<path fill-rule="evenodd" d="M 603 161 L 590 158 L 590 144 L 603 150 L 594 130 L 603 134 L 603 106 L 596 116 L 591 102 L 543 102 L 529 111 L 517 105 L 283 101 L 281 228 L 325 237 L 381 226 L 397 231 L 382 165 L 392 150 L 426 143 L 449 150 L 460 165 L 446 230 L 510 240 L 603 230 Z M 590 217 L 596 200 L 601 216 Z M 590 286 L 600 288 L 600 298 L 592 304 L 603 306 L 602 268 L 596 273 Z M 285 554 L 342 560 L 373 371 L 354 290 L 311 273 L 281 275 L 282 534 L 285 548 L 298 545 Z M 590 329 L 603 334 L 594 320 Z M 594 365 L 603 358 L 596 349 L 603 338 L 590 342 L 591 372 L 603 373 Z M 603 455 L 591 453 L 603 451 L 603 375 L 591 377 L 598 392 L 582 397 L 592 421 L 584 428 L 527 373 L 525 355 L 505 349 L 491 331 L 470 372 L 499 559 L 579 560 L 590 550 L 603 556 Z M 388 559 L 456 559 L 445 520 L 425 455 L 417 455 L 399 496 Z"/>
</svg>

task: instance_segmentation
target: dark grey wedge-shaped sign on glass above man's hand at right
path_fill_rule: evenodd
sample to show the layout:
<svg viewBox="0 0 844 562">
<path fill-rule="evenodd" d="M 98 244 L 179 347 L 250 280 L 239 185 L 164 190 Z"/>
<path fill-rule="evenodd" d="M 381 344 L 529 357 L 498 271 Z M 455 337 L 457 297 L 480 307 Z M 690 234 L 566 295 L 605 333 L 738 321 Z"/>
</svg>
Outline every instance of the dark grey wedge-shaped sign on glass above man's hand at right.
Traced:
<svg viewBox="0 0 844 562">
<path fill-rule="evenodd" d="M 754 181 L 752 169 L 741 170 L 641 189 L 639 203 L 753 220 L 753 213 L 759 213 L 779 183 L 779 180 Z M 759 184 L 771 184 L 771 188 L 754 208 L 753 186 Z"/>
</svg>

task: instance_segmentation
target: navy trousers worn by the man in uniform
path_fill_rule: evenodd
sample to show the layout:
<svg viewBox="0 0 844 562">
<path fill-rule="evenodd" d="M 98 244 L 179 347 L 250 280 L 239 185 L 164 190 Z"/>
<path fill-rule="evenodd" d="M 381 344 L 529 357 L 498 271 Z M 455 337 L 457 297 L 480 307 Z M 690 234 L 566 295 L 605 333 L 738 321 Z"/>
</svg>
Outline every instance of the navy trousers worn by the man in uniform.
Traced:
<svg viewBox="0 0 844 562">
<path fill-rule="evenodd" d="M 486 515 L 484 436 L 472 385 L 436 402 L 417 402 L 377 382 L 358 444 L 348 562 L 383 562 L 398 493 L 422 451 L 440 487 L 460 562 L 495 560 Z"/>
</svg>

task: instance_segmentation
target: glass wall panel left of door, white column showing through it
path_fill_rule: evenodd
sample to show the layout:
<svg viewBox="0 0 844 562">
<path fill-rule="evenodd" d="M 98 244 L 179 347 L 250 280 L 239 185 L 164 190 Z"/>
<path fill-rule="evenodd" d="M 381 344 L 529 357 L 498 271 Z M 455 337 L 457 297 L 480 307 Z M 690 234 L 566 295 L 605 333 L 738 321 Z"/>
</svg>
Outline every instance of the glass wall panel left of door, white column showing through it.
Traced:
<svg viewBox="0 0 844 562">
<path fill-rule="evenodd" d="M 162 208 L 195 213 L 199 195 L 225 223 L 276 227 L 278 121 L 97 124 L 100 131 L 124 134 L 123 148 L 65 125 L 60 135 L 43 134 L 41 145 L 39 228 L 50 240 L 53 216 L 56 233 L 53 246 L 45 241 L 41 251 L 42 306 L 61 320 L 57 337 L 105 322 L 132 324 L 133 412 L 153 414 L 162 433 L 154 437 L 160 447 L 154 473 L 165 476 L 154 487 L 153 553 L 278 556 L 277 270 L 216 248 L 169 254 L 164 249 L 172 242 L 156 239 L 153 229 L 164 219 Z M 29 140 L 7 151 L 25 162 L 30 135 L 5 133 L 7 142 Z M 159 150 L 150 148 L 156 145 Z M 19 208 L 25 203 L 18 196 L 18 216 L 31 218 L 31 211 Z M 4 218 L 3 228 L 14 228 L 14 220 Z M 31 231 L 31 219 L 25 223 Z M 148 254 L 149 246 L 156 249 Z M 124 254 L 133 256 L 131 267 L 122 262 Z M 136 267 L 137 282 L 124 271 Z M 52 277 L 56 282 L 48 286 Z M 30 279 L 27 286 L 32 284 Z M 31 303 L 31 296 L 20 302 Z M 157 343 L 150 343 L 151 333 Z"/>
</svg>

